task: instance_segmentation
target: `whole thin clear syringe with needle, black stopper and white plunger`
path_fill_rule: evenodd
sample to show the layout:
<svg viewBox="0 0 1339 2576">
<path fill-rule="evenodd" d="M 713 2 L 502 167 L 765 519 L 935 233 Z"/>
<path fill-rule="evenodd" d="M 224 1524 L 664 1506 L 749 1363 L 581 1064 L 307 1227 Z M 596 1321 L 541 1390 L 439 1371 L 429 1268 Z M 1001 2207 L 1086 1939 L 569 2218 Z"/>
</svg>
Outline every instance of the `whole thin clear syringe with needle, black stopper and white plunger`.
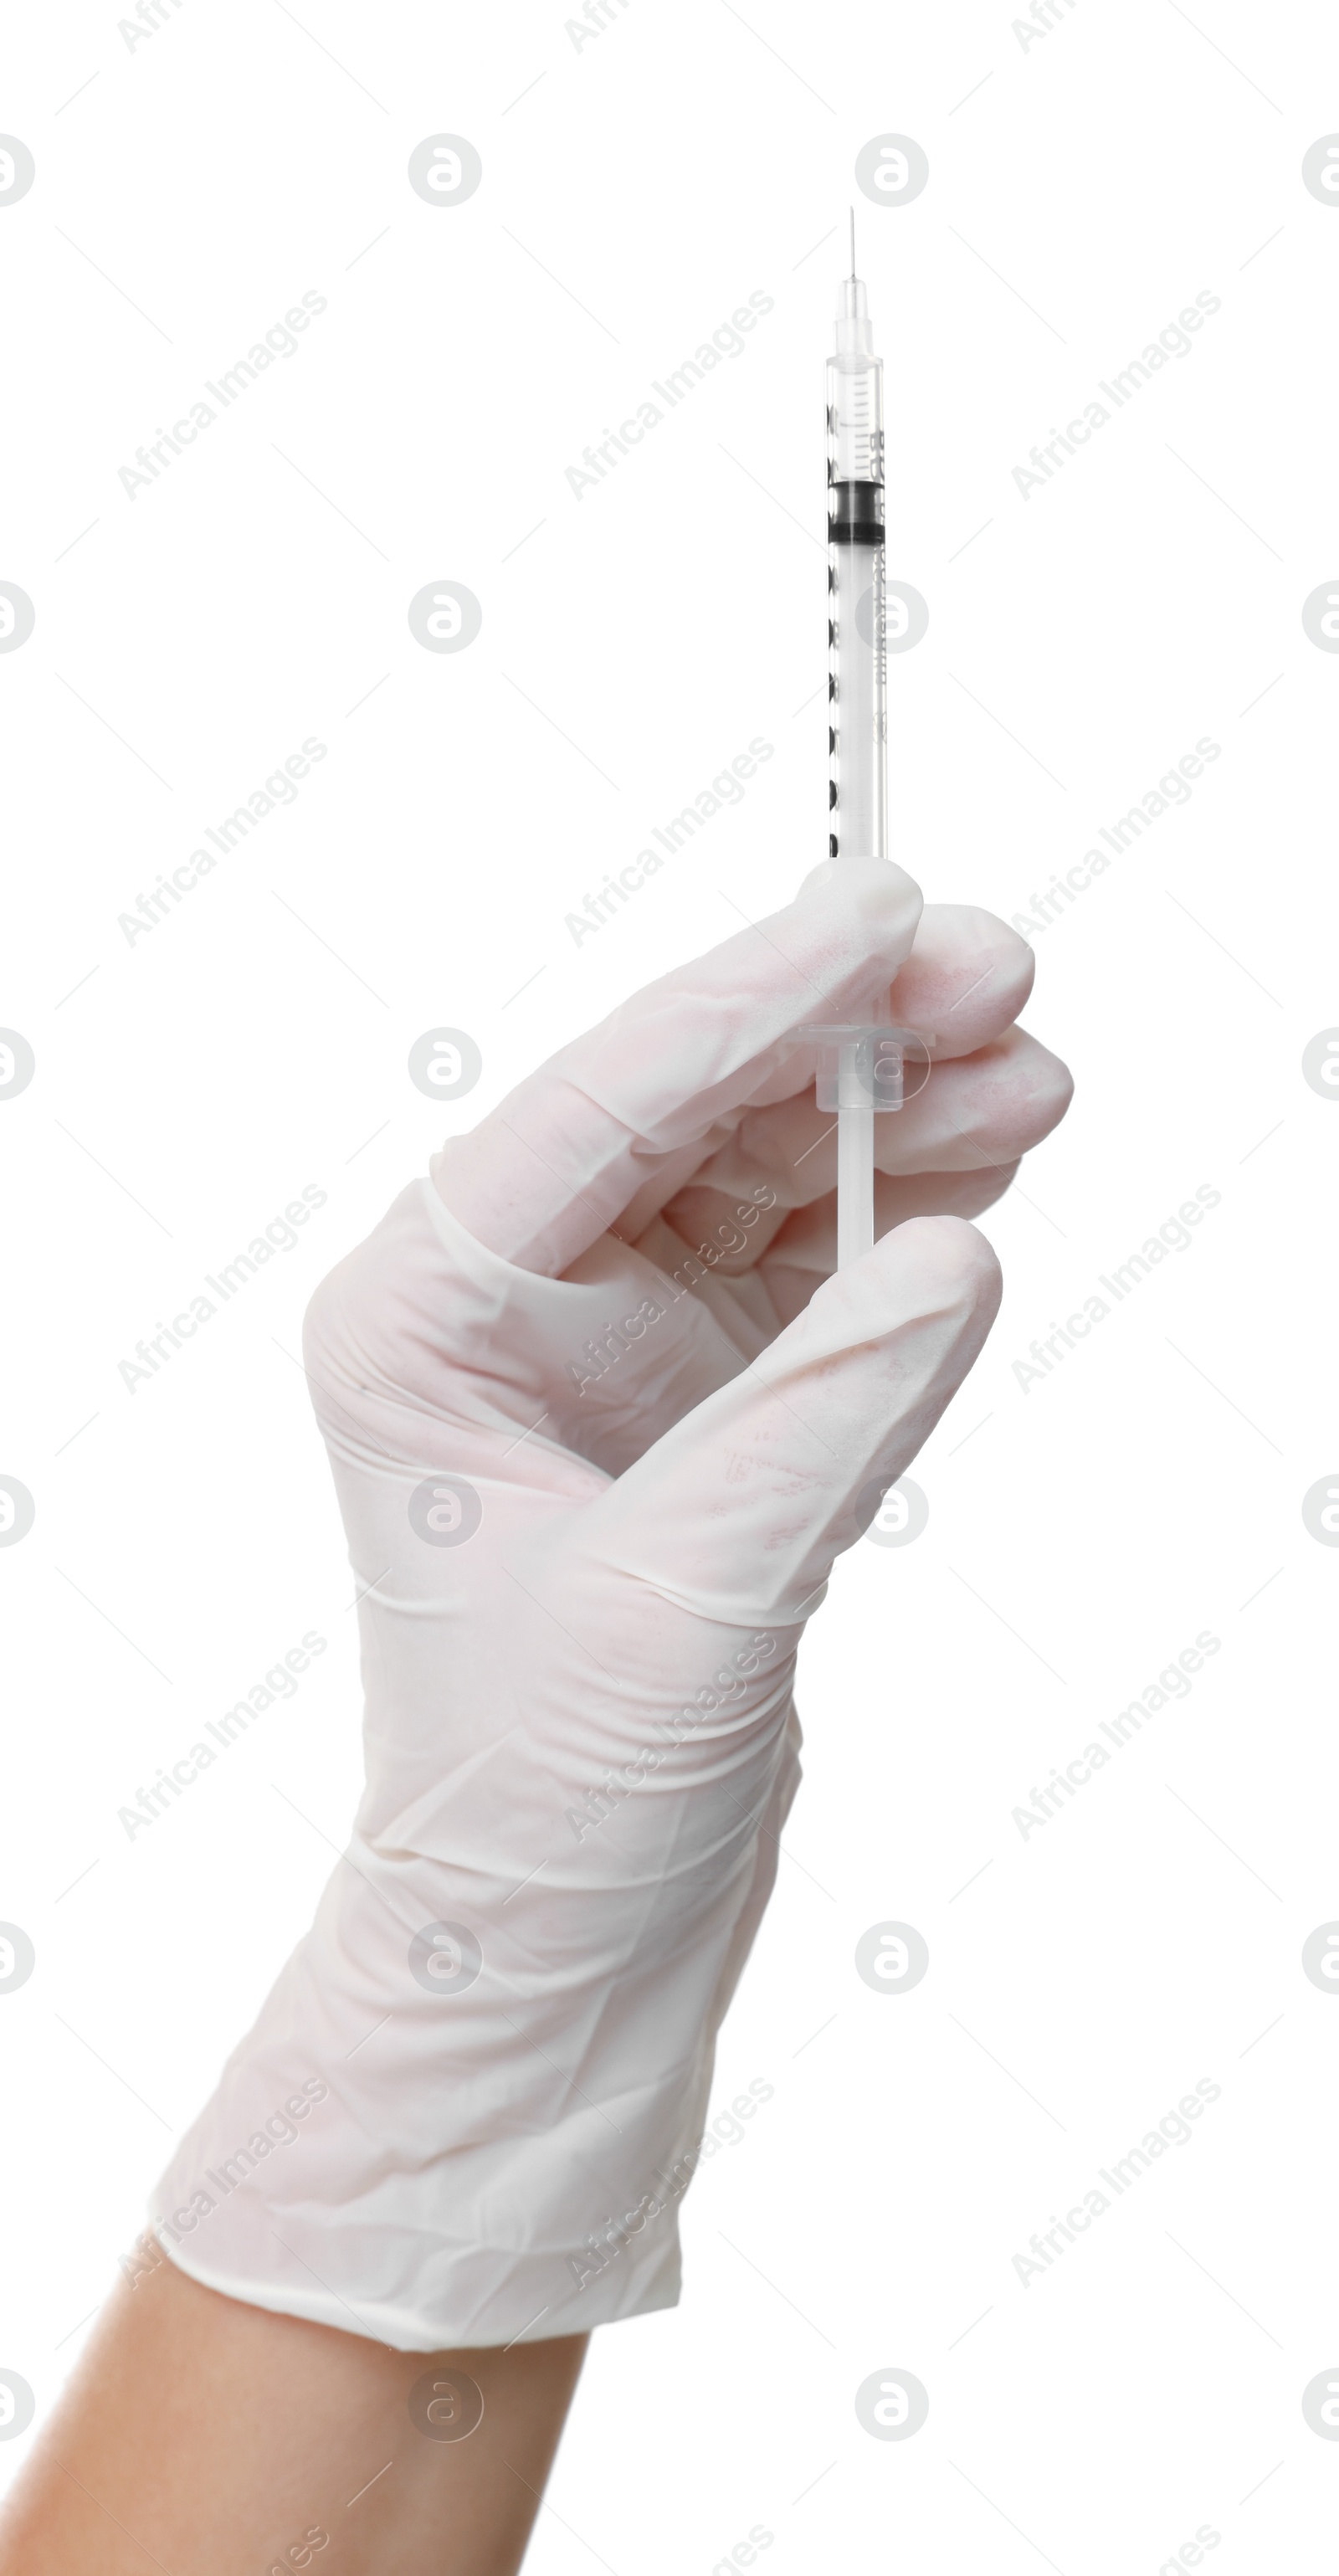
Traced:
<svg viewBox="0 0 1339 2576">
<path fill-rule="evenodd" d="M 829 860 L 888 858 L 888 647 L 883 572 L 883 358 L 855 276 L 837 289 L 827 361 L 827 750 Z M 873 1118 L 899 1110 L 906 1066 L 930 1072 L 922 1030 L 894 1028 L 881 994 L 870 1020 L 798 1030 L 816 1043 L 816 1097 L 837 1110 L 837 1267 L 873 1249 Z"/>
</svg>

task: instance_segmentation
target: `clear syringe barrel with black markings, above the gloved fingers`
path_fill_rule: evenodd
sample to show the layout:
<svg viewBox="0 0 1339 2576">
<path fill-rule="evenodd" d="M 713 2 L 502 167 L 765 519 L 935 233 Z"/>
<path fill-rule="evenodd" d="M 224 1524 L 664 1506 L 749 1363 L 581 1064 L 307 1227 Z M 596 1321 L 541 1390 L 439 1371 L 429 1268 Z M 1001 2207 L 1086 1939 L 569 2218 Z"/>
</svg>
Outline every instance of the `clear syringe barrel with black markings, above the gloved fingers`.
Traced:
<svg viewBox="0 0 1339 2576">
<path fill-rule="evenodd" d="M 886 858 L 883 363 L 865 289 L 827 361 L 829 858 Z"/>
</svg>

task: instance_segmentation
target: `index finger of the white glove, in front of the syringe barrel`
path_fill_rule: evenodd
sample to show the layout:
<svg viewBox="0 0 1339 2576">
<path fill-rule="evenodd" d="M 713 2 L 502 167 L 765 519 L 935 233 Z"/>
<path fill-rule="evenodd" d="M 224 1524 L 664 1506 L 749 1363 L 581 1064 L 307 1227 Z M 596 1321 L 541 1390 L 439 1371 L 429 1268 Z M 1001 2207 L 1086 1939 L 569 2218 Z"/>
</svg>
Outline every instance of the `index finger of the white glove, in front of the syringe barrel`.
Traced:
<svg viewBox="0 0 1339 2576">
<path fill-rule="evenodd" d="M 528 1074 L 435 1157 L 438 1195 L 489 1252 L 556 1278 L 664 1157 L 729 1133 L 796 1025 L 873 1007 L 919 912 L 919 886 L 886 860 L 806 884 Z"/>
</svg>

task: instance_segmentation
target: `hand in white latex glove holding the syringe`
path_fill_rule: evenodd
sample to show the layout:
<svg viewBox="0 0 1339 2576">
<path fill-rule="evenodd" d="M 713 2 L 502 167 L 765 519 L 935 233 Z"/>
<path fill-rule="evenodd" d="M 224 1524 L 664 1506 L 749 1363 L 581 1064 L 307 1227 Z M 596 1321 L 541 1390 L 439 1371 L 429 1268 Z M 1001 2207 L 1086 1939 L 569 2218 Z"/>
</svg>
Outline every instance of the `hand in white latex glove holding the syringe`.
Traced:
<svg viewBox="0 0 1339 2576">
<path fill-rule="evenodd" d="M 963 1218 L 1069 1097 L 1015 1028 L 1030 979 L 991 914 L 824 866 L 445 1146 L 317 1291 L 368 1785 L 160 2184 L 198 2280 L 404 2349 L 677 2298 L 798 1638 L 991 1324 Z M 935 1069 L 876 1121 L 883 1239 L 829 1278 L 837 1139 L 788 1030 L 888 987 Z"/>
</svg>

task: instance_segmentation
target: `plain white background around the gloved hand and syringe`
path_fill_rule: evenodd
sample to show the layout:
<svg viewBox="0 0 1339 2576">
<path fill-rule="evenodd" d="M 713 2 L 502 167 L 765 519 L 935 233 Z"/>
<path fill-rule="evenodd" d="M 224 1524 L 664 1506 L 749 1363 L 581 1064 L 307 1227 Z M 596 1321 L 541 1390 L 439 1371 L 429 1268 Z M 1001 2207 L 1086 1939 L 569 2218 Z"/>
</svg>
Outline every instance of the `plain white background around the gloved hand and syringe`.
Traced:
<svg viewBox="0 0 1339 2576">
<path fill-rule="evenodd" d="M 165 0 L 167 5 L 167 0 Z M 528 2566 L 1148 2576 L 1313 2566 L 1339 2450 L 1339 1914 L 1321 1595 L 1339 1023 L 1331 703 L 1300 603 L 1339 564 L 1339 28 L 1244 0 L 824 13 L 610 0 L 381 18 L 183 0 L 126 46 L 8 31 L 0 657 L 8 1401 L 36 1497 L 10 1638 L 0 2365 L 46 2414 L 144 2192 L 247 2025 L 358 1783 L 355 1620 L 294 1363 L 312 1285 L 425 1167 L 409 1043 L 484 1056 L 456 1128 L 824 855 L 821 366 L 855 193 L 888 361 L 894 855 L 1009 917 L 1200 737 L 1221 757 L 1048 930 L 1027 1025 L 1066 1126 L 986 1231 L 1004 1311 L 801 1664 L 809 1772 L 718 2094 L 775 2099 L 685 2205 L 677 2313 L 605 2329 Z M 1195 23 L 1192 23 L 1195 21 Z M 1030 21 L 1027 21 L 1030 23 Z M 464 206 L 407 183 L 469 137 Z M 306 289 L 327 312 L 134 500 L 118 482 Z M 729 312 L 775 299 L 595 489 L 577 464 Z M 1221 312 L 1022 500 L 1012 466 L 1174 314 Z M 484 626 L 420 649 L 409 598 Z M 304 737 L 327 757 L 157 925 L 118 914 Z M 749 737 L 742 806 L 582 945 L 564 914 Z M 327 1206 L 149 1386 L 118 1360 L 304 1182 Z M 1040 1386 L 1012 1363 L 1174 1208 L 1221 1206 Z M 1318 1394 L 1324 1396 L 1318 1401 Z M 118 1806 L 306 1628 L 330 1651 L 134 1842 Z M 1012 1808 L 1200 1631 L 1221 1651 L 1045 1829 Z M 301 1814 L 299 1814 L 301 1811 Z M 857 1937 L 930 1942 L 906 1996 Z M 1197 2081 L 1221 2099 L 1063 2259 L 1012 2254 Z M 930 2391 L 870 2439 L 860 2380 Z M 18 2465 L 23 2442 L 0 2452 Z M 762 2561 L 760 2561 L 762 2563 Z"/>
</svg>

